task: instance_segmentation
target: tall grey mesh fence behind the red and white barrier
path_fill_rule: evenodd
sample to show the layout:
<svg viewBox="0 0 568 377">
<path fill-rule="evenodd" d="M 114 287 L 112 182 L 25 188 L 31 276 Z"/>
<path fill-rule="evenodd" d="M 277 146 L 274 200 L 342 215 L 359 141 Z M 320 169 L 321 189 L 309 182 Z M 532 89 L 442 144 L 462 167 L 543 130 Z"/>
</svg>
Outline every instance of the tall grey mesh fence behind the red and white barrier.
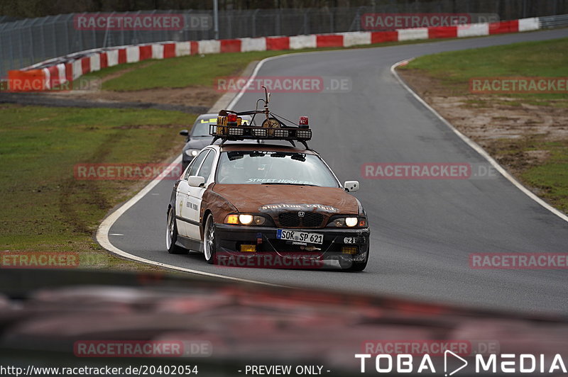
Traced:
<svg viewBox="0 0 568 377">
<path fill-rule="evenodd" d="M 4 77 L 10 69 L 21 69 L 53 57 L 94 48 L 159 43 L 166 40 L 180 42 L 364 31 L 361 16 L 366 13 L 467 14 L 471 16 L 468 23 L 568 13 L 568 0 L 374 0 L 372 4 L 350 7 L 221 10 L 218 37 L 215 36 L 211 23 L 213 13 L 210 9 L 70 13 L 17 21 L 4 18 L 4 21 L 0 19 L 0 77 Z M 80 22 L 81 18 L 104 21 L 106 16 L 159 18 L 168 14 L 182 18 L 183 27 L 117 28 L 108 24 L 105 27 L 95 22 L 96 27 L 87 25 L 84 28 Z M 480 15 L 487 14 L 496 18 L 479 20 Z M 204 15 L 208 23 L 195 27 L 192 21 L 196 21 L 194 17 L 199 15 Z M 398 26 L 406 27 L 411 26 Z"/>
</svg>

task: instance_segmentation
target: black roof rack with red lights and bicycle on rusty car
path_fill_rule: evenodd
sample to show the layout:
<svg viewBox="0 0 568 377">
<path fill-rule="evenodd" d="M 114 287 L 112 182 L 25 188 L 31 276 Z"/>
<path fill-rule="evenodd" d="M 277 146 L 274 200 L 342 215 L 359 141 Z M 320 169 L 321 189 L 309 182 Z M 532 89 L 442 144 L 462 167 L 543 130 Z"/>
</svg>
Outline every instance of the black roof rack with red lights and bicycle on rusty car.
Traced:
<svg viewBox="0 0 568 377">
<path fill-rule="evenodd" d="M 301 116 L 300 122 L 295 124 L 291 120 L 272 113 L 268 109 L 271 94 L 268 93 L 266 86 L 262 87 L 264 89 L 265 98 L 256 101 L 257 108 L 255 110 L 241 112 L 231 110 L 219 111 L 217 124 L 209 125 L 209 135 L 213 136 L 211 144 L 217 140 L 221 140 L 221 145 L 227 140 L 258 140 L 258 142 L 261 142 L 261 140 L 286 140 L 294 147 L 296 146 L 296 141 L 300 142 L 304 145 L 305 149 L 309 150 L 310 148 L 307 146 L 307 141 L 312 139 L 312 130 L 310 130 L 310 125 L 308 125 L 307 116 Z M 259 101 L 264 102 L 264 108 L 262 110 L 258 110 Z M 264 114 L 263 118 L 265 119 L 261 125 L 253 125 L 254 118 L 257 114 Z M 240 116 L 252 116 L 251 123 L 247 124 L 246 121 L 243 122 Z M 284 121 L 292 125 L 285 124 Z"/>
</svg>

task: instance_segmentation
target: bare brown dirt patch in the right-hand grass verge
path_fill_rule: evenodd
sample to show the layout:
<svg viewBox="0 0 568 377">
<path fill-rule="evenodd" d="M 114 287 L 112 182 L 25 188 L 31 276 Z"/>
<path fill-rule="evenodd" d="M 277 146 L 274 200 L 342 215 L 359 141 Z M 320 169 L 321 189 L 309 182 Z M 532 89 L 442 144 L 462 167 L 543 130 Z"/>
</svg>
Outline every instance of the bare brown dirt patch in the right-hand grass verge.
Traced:
<svg viewBox="0 0 568 377">
<path fill-rule="evenodd" d="M 550 152 L 531 150 L 508 153 L 531 139 L 568 139 L 568 108 L 565 100 L 523 101 L 501 96 L 463 95 L 415 69 L 398 71 L 412 89 L 458 130 L 484 147 L 513 174 L 550 157 Z M 533 104 L 534 103 L 534 104 Z M 510 140 L 507 143 L 506 140 Z"/>
</svg>

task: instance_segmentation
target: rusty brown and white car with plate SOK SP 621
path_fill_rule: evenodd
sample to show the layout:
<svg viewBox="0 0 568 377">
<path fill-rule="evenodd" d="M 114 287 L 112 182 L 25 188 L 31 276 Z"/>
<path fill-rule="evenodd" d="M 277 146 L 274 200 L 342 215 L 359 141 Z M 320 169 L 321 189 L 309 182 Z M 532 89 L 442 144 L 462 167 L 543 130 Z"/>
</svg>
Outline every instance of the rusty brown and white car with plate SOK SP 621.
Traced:
<svg viewBox="0 0 568 377">
<path fill-rule="evenodd" d="M 166 247 L 202 252 L 209 263 L 221 255 L 273 254 L 362 271 L 370 231 L 361 203 L 348 193 L 358 189 L 357 181 L 341 185 L 313 150 L 209 145 L 175 183 Z"/>
</svg>

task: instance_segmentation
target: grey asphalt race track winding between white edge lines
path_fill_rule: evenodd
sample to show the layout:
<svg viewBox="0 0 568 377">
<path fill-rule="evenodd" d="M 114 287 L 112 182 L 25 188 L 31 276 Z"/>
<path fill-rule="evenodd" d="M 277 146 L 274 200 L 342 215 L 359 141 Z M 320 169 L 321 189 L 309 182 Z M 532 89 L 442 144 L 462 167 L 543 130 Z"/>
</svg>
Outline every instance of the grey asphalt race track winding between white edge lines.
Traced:
<svg viewBox="0 0 568 377">
<path fill-rule="evenodd" d="M 435 52 L 568 37 L 568 29 L 355 50 L 271 60 L 258 76 L 349 77 L 350 93 L 273 94 L 271 110 L 310 116 L 314 148 L 341 181 L 357 179 L 371 223 L 371 257 L 362 273 L 227 268 L 202 254 L 165 251 L 173 181 L 162 181 L 122 215 L 109 240 L 124 252 L 165 264 L 254 281 L 368 292 L 476 308 L 568 313 L 567 270 L 470 269 L 469 254 L 567 252 L 568 223 L 503 176 L 493 179 L 372 180 L 368 162 L 486 164 L 420 104 L 390 72 L 400 60 Z M 491 59 L 488 56 L 488 59 Z M 245 94 L 249 110 L 261 94 Z M 119 234 L 119 235 L 113 235 Z"/>
</svg>

